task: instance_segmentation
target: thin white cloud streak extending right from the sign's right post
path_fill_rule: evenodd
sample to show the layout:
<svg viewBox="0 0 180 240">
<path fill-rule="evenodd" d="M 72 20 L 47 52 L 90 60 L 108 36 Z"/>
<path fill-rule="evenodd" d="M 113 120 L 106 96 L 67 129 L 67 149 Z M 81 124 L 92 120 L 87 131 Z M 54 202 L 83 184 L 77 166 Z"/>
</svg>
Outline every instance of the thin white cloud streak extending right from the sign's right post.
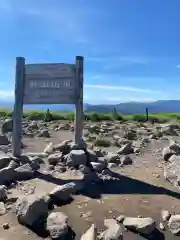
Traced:
<svg viewBox="0 0 180 240">
<path fill-rule="evenodd" d="M 85 84 L 84 87 L 109 90 L 109 91 L 124 90 L 124 91 L 129 91 L 129 92 L 160 93 L 160 91 L 155 91 L 155 90 L 150 90 L 150 89 L 141 89 L 141 88 L 135 88 L 135 87 L 129 87 L 129 86 L 120 86 L 120 85 Z"/>
</svg>

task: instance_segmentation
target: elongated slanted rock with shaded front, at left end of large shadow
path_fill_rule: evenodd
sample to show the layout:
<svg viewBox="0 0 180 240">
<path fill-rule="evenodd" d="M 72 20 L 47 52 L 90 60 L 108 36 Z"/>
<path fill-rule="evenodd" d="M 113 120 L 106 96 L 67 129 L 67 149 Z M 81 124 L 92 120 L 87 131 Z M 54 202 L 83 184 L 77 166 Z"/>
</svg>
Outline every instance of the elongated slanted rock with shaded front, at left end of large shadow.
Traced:
<svg viewBox="0 0 180 240">
<path fill-rule="evenodd" d="M 81 181 L 70 182 L 64 185 L 58 186 L 50 192 L 50 197 L 57 201 L 67 202 L 71 199 L 71 195 L 75 194 L 77 191 L 80 191 L 84 188 L 84 184 Z"/>
</svg>

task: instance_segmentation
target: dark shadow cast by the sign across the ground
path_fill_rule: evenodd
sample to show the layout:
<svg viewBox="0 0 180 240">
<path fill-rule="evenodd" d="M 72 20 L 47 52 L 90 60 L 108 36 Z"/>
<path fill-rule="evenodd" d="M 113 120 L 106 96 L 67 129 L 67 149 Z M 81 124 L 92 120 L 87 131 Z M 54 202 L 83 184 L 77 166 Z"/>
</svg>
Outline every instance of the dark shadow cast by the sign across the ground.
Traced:
<svg viewBox="0 0 180 240">
<path fill-rule="evenodd" d="M 167 195 L 173 198 L 180 199 L 180 193 L 169 190 L 164 187 L 154 186 L 152 184 L 142 182 L 137 179 L 132 179 L 127 176 L 120 175 L 109 171 L 109 174 L 116 178 L 116 180 L 103 180 L 99 183 L 89 182 L 87 183 L 85 189 L 81 194 L 91 197 L 91 198 L 101 198 L 102 194 L 156 194 L 156 195 Z M 55 178 L 52 175 L 47 175 L 43 173 L 37 173 L 37 178 L 48 181 L 57 185 L 63 185 L 68 182 L 79 182 L 83 180 L 62 180 Z"/>
</svg>

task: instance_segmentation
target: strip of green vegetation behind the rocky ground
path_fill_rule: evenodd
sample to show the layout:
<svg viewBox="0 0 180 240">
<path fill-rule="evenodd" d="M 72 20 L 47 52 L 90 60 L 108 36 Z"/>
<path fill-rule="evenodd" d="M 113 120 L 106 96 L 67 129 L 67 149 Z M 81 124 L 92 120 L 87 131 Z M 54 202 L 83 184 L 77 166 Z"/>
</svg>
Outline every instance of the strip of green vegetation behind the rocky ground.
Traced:
<svg viewBox="0 0 180 240">
<path fill-rule="evenodd" d="M 90 121 L 103 121 L 103 120 L 133 120 L 133 121 L 146 121 L 146 114 L 134 114 L 134 115 L 122 115 L 120 113 L 85 113 L 86 120 Z M 12 110 L 0 109 L 0 118 L 12 117 Z M 47 113 L 44 111 L 25 111 L 23 117 L 29 120 L 45 120 Z M 49 120 L 73 120 L 73 112 L 50 112 Z M 149 121 L 155 122 L 166 122 L 172 119 L 180 120 L 180 113 L 160 113 L 160 114 L 149 114 Z"/>
</svg>

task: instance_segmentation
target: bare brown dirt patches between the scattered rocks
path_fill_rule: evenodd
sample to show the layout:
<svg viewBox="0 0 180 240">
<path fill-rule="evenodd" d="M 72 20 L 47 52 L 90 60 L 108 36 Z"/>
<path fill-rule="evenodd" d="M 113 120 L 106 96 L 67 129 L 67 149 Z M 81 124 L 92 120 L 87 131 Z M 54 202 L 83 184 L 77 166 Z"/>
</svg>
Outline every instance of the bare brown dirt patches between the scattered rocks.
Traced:
<svg viewBox="0 0 180 240">
<path fill-rule="evenodd" d="M 26 144 L 24 152 L 42 152 L 48 142 L 59 143 L 64 139 L 72 139 L 73 135 L 68 131 L 52 132 L 50 139 L 28 139 L 23 141 Z M 69 222 L 76 233 L 76 239 L 91 223 L 96 223 L 98 230 L 103 229 L 105 218 L 117 217 L 120 214 L 125 216 L 152 217 L 157 221 L 157 228 L 161 221 L 161 210 L 169 210 L 171 213 L 180 213 L 180 192 L 172 187 L 163 177 L 163 166 L 159 156 L 161 148 L 166 141 L 153 140 L 143 150 L 140 156 L 133 156 L 133 164 L 118 167 L 114 172 L 119 180 L 107 181 L 103 185 L 92 185 L 83 195 L 74 196 L 74 200 L 65 206 L 55 207 L 53 211 L 62 211 L 69 216 Z M 108 148 L 114 151 L 115 148 Z M 74 179 L 68 173 L 62 173 L 61 179 Z M 49 192 L 56 186 L 51 179 L 33 179 L 27 182 L 35 187 L 35 192 L 42 194 Z M 17 196 L 17 189 L 12 189 L 8 196 L 12 200 Z M 3 223 L 9 223 L 10 228 L 4 230 Z M 0 217 L 1 234 L 0 240 L 37 240 L 48 239 L 39 233 L 39 236 L 26 227 L 21 226 L 17 220 L 14 208 L 5 216 Z M 178 239 L 168 230 L 157 231 L 149 239 Z M 124 239 L 136 240 L 147 239 L 130 231 L 124 232 Z"/>
</svg>

